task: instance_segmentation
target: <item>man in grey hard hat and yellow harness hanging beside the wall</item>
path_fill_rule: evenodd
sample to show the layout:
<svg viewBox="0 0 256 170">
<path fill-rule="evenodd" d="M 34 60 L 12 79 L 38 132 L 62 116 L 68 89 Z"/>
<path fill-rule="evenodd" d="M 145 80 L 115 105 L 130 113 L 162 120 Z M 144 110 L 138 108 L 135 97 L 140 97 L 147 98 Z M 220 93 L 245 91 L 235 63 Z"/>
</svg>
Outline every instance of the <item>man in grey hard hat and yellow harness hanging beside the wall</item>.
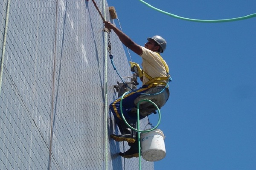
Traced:
<svg viewBox="0 0 256 170">
<path fill-rule="evenodd" d="M 131 40 L 126 34 L 116 28 L 116 26 L 114 26 L 109 21 L 104 21 L 104 23 L 105 28 L 113 30 L 126 47 L 142 57 L 143 71 L 140 69 L 140 66 L 137 63 L 131 62 L 131 66 L 137 67 L 139 76 L 143 82 L 143 86 L 136 90 L 136 92 L 138 93 L 131 91 L 130 93 L 126 94 L 122 101 L 122 113 L 126 121 L 129 125 L 131 125 L 131 127 L 136 128 L 137 114 L 134 114 L 131 111 L 131 108 L 137 107 L 137 105 L 135 105 L 134 103 L 134 100 L 137 99 L 141 95 L 141 93 L 150 93 L 150 90 L 156 87 L 164 89 L 163 93 L 165 93 L 167 97 L 166 99 L 164 99 L 164 102 L 160 104 L 160 106 L 163 106 L 169 97 L 169 90 L 168 88 L 165 88 L 166 83 L 169 81 L 170 78 L 168 73 L 169 69 L 166 65 L 166 62 L 160 56 L 160 53 L 163 53 L 163 51 L 166 49 L 166 40 L 157 35 L 148 38 L 148 42 L 145 43 L 144 47 L 142 47 L 140 45 L 137 45 L 133 40 Z M 113 101 L 110 105 L 110 109 L 122 134 L 112 134 L 111 138 L 118 142 L 128 142 L 130 149 L 127 150 L 125 153 L 119 153 L 120 156 L 125 158 L 138 157 L 139 150 L 136 135 L 137 133 L 136 131 L 131 130 L 122 119 L 120 101 L 121 98 Z M 145 115 L 140 115 L 140 119 L 143 119 L 144 117 Z"/>
</svg>

